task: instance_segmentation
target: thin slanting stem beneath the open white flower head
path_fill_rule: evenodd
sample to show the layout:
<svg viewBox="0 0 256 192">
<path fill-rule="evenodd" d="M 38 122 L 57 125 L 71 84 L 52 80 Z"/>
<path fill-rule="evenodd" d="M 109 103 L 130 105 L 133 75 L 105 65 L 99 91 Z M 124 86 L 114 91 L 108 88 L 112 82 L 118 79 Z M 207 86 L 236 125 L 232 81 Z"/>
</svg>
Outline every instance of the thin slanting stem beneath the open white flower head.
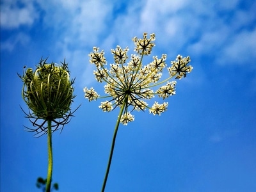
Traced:
<svg viewBox="0 0 256 192">
<path fill-rule="evenodd" d="M 106 183 L 107 183 L 107 180 L 108 180 L 108 173 L 109 173 L 109 169 L 110 169 L 110 165 L 111 165 L 111 160 L 112 160 L 112 156 L 113 156 L 113 151 L 114 151 L 114 147 L 115 147 L 116 134 L 117 134 L 118 127 L 119 127 L 119 124 L 120 124 L 122 113 L 123 113 L 124 108 L 125 108 L 125 104 L 127 103 L 127 99 L 128 99 L 128 97 L 126 96 L 125 99 L 124 99 L 124 103 L 122 104 L 122 107 L 120 109 L 120 112 L 119 112 L 119 115 L 118 115 L 118 119 L 116 121 L 116 127 L 115 127 L 115 131 L 114 131 L 112 145 L 111 145 L 111 150 L 110 150 L 109 159 L 108 159 L 108 166 L 107 166 L 104 182 L 102 184 L 101 192 L 104 192 L 105 187 L 106 187 Z"/>
</svg>

